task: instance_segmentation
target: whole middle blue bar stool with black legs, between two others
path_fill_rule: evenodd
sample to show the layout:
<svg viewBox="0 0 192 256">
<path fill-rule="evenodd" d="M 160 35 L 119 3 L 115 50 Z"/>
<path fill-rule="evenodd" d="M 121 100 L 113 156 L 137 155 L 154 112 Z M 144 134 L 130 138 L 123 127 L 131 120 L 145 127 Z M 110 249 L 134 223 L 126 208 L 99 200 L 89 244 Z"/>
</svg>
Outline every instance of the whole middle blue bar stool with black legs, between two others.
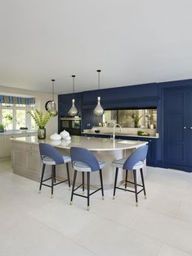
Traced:
<svg viewBox="0 0 192 256">
<path fill-rule="evenodd" d="M 102 199 L 104 199 L 104 190 L 103 190 L 103 178 L 102 178 L 102 168 L 105 166 L 105 162 L 100 162 L 96 159 L 96 157 L 92 154 L 87 149 L 83 148 L 77 148 L 77 147 L 72 147 L 70 149 L 70 156 L 71 156 L 71 161 L 72 161 L 72 166 L 74 167 L 74 182 L 73 182 L 73 187 L 72 187 L 72 193 L 71 193 L 71 200 L 70 204 L 72 204 L 74 194 L 87 198 L 87 211 L 90 209 L 90 203 L 89 203 L 89 198 L 90 195 L 96 193 L 97 191 L 101 190 L 102 193 Z M 82 172 L 82 180 L 83 183 L 81 185 L 78 185 L 76 189 L 74 189 L 75 186 L 75 181 L 77 177 L 77 172 L 81 171 Z M 100 171 L 100 189 L 93 191 L 90 194 L 90 173 L 92 171 Z M 87 172 L 87 196 L 83 195 L 84 194 L 84 173 Z M 78 188 L 83 187 L 83 194 L 76 194 L 74 193 L 75 190 L 78 190 Z"/>
</svg>

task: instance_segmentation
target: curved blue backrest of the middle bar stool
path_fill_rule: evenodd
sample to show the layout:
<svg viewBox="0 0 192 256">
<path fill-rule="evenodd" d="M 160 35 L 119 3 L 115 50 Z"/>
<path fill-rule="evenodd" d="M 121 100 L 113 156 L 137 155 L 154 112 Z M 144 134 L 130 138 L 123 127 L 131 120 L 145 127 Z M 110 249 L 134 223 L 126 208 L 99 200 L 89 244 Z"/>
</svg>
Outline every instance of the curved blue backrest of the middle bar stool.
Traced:
<svg viewBox="0 0 192 256">
<path fill-rule="evenodd" d="M 71 161 L 79 161 L 87 164 L 88 167 L 92 169 L 92 171 L 99 171 L 100 165 L 97 161 L 96 157 L 87 149 L 71 147 L 70 149 Z"/>
</svg>

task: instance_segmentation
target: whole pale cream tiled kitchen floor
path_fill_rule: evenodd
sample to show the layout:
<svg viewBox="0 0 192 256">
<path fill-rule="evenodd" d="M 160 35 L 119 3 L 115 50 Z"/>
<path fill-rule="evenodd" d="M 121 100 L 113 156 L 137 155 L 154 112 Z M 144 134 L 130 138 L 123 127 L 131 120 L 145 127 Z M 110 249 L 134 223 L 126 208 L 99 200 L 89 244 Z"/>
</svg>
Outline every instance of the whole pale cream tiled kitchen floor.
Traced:
<svg viewBox="0 0 192 256">
<path fill-rule="evenodd" d="M 67 185 L 50 190 L 0 162 L 0 255 L 192 255 L 192 174 L 148 167 L 147 199 L 112 190 L 69 206 Z"/>
</svg>

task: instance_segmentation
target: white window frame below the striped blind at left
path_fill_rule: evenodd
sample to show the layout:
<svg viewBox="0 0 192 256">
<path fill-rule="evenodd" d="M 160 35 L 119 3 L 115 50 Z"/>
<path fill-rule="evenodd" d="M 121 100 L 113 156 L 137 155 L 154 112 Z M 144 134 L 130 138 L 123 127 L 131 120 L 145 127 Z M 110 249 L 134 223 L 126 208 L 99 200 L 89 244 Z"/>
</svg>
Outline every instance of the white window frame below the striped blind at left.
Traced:
<svg viewBox="0 0 192 256">
<path fill-rule="evenodd" d="M 28 127 L 28 130 L 33 130 L 31 127 L 31 116 L 27 114 L 28 111 L 32 110 L 32 107 L 35 107 L 34 105 L 25 105 L 25 106 L 19 106 L 16 104 L 6 104 L 2 105 L 0 104 L 0 124 L 2 124 L 2 109 L 12 109 L 13 111 L 13 129 L 12 130 L 18 130 L 16 129 L 16 110 L 25 110 L 25 125 Z"/>
</svg>

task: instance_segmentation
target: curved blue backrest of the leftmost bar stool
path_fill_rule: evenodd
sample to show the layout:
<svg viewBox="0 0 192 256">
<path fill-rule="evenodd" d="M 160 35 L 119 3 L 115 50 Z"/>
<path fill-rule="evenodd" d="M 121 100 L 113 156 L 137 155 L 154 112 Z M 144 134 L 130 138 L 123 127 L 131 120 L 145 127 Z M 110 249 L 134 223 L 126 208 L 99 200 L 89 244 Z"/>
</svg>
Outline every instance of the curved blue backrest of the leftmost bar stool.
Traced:
<svg viewBox="0 0 192 256">
<path fill-rule="evenodd" d="M 43 157 L 51 158 L 56 162 L 56 164 L 64 163 L 64 158 L 62 157 L 62 155 L 50 144 L 39 143 L 39 151 L 40 151 L 41 158 Z"/>
</svg>

